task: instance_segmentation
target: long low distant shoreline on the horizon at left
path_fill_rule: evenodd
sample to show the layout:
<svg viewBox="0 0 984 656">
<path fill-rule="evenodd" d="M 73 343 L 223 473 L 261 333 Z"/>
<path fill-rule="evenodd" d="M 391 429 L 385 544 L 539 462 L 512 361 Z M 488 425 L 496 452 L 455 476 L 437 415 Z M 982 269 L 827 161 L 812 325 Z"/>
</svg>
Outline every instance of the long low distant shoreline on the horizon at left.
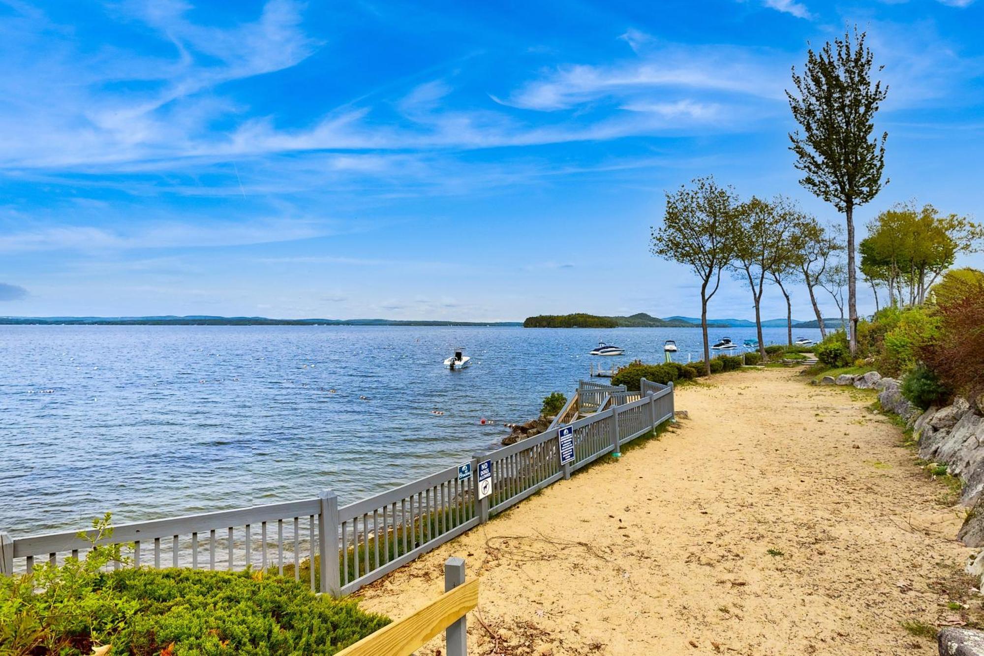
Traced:
<svg viewBox="0 0 984 656">
<path fill-rule="evenodd" d="M 519 321 L 270 319 L 264 316 L 4 316 L 3 325 L 59 326 L 522 326 Z"/>
</svg>

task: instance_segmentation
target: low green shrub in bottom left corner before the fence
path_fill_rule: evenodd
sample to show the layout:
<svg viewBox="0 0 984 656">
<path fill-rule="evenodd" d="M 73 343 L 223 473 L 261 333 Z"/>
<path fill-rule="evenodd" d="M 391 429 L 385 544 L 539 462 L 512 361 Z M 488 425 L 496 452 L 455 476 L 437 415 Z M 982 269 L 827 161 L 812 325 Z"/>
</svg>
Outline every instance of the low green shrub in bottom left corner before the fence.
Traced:
<svg viewBox="0 0 984 656">
<path fill-rule="evenodd" d="M 389 623 L 352 602 L 261 572 L 105 571 L 123 561 L 109 515 L 93 522 L 86 558 L 0 576 L 0 654 L 334 654 Z"/>
</svg>

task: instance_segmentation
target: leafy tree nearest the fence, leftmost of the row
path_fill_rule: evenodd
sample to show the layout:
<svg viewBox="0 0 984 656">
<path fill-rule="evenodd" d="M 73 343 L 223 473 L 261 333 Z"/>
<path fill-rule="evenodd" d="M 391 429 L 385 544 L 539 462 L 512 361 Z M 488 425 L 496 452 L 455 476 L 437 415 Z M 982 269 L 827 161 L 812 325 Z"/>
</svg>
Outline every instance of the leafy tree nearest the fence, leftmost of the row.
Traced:
<svg viewBox="0 0 984 656">
<path fill-rule="evenodd" d="M 699 177 L 691 186 L 666 192 L 662 225 L 652 228 L 650 250 L 664 260 L 689 267 L 701 281 L 701 329 L 704 364 L 710 374 L 707 341 L 707 302 L 717 293 L 721 272 L 731 261 L 731 243 L 738 197 L 734 189 L 717 184 L 713 176 Z"/>
</svg>

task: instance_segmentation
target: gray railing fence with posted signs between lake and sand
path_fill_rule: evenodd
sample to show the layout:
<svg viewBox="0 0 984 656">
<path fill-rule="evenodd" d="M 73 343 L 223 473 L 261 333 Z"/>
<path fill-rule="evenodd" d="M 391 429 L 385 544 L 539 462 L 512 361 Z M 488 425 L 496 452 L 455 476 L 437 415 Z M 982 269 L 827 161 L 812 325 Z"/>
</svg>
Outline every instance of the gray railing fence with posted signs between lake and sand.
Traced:
<svg viewBox="0 0 984 656">
<path fill-rule="evenodd" d="M 618 455 L 626 442 L 672 420 L 672 383 L 644 378 L 641 388 L 628 392 L 624 386 L 583 383 L 579 396 L 597 395 L 599 411 L 566 425 L 573 428 L 575 459 L 564 465 L 564 426 L 552 426 L 475 454 L 470 473 L 450 467 L 341 507 L 334 492 L 322 492 L 298 501 L 121 524 L 103 542 L 129 545 L 132 566 L 259 568 L 305 580 L 317 592 L 349 594 L 598 458 Z M 492 463 L 492 491 L 479 499 L 478 463 L 484 460 Z M 89 547 L 74 531 L 16 539 L 0 533 L 0 573 L 80 558 Z"/>
</svg>

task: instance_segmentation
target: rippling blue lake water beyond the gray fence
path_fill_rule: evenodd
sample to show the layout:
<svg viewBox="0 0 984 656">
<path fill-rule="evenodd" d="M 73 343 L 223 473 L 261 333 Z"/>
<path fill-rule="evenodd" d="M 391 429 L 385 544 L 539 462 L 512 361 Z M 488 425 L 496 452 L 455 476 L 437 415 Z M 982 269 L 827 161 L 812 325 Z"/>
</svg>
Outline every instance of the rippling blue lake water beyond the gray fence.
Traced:
<svg viewBox="0 0 984 656">
<path fill-rule="evenodd" d="M 755 329 L 711 329 L 721 336 Z M 0 326 L 0 530 L 326 489 L 347 503 L 497 446 L 503 423 L 570 395 L 592 362 L 662 361 L 666 339 L 677 361 L 700 359 L 691 328 Z M 599 340 L 625 356 L 588 356 Z M 449 371 L 457 347 L 472 365 Z"/>
</svg>

